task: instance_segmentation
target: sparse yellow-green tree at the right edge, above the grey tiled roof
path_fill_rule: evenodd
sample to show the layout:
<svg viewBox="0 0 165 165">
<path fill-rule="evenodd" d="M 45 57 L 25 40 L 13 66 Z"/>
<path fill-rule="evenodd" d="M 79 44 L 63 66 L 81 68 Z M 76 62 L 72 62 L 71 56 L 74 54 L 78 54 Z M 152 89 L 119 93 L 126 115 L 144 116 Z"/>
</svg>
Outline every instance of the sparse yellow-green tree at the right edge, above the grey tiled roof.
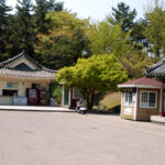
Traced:
<svg viewBox="0 0 165 165">
<path fill-rule="evenodd" d="M 151 43 L 152 53 L 160 57 L 165 54 L 165 10 L 156 0 L 145 15 L 147 25 L 144 26 L 144 35 Z"/>
</svg>

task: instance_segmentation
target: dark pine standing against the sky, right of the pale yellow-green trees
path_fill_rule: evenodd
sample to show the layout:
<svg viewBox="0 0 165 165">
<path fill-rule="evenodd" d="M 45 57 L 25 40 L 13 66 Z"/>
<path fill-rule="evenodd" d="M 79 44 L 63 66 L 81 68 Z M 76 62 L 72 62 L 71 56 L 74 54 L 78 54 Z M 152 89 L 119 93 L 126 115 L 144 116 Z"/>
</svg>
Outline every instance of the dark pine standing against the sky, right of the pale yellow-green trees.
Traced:
<svg viewBox="0 0 165 165">
<path fill-rule="evenodd" d="M 124 2 L 118 3 L 117 8 L 112 8 L 112 16 L 109 19 L 110 23 L 113 25 L 120 24 L 122 31 L 131 32 L 130 41 L 135 44 L 138 50 L 143 50 L 147 46 L 147 41 L 143 35 L 143 25 L 146 23 L 145 20 L 136 21 L 136 10 L 131 10 L 130 6 Z"/>
</svg>

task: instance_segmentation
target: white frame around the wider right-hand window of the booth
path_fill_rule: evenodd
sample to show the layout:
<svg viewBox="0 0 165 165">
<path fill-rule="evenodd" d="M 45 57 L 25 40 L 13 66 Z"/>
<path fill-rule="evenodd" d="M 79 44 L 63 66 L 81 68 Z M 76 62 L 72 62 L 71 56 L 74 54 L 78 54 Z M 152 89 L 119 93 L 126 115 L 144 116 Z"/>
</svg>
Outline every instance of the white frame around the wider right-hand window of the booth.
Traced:
<svg viewBox="0 0 165 165">
<path fill-rule="evenodd" d="M 147 107 L 144 107 L 142 106 L 142 94 L 143 92 L 147 92 Z M 151 92 L 154 92 L 155 94 L 155 107 L 150 107 L 150 101 L 148 101 L 148 98 L 150 98 L 150 94 Z M 157 91 L 152 91 L 152 90 L 141 90 L 141 95 L 140 95 L 140 108 L 143 108 L 143 109 L 156 109 L 157 108 Z"/>
</svg>

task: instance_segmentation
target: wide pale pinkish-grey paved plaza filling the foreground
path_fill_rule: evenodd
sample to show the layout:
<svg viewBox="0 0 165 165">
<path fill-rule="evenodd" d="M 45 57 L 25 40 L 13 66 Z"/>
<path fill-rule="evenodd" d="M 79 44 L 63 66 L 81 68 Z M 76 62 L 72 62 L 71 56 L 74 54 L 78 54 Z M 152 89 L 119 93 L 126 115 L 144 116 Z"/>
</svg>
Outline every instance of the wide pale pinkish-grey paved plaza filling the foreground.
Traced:
<svg viewBox="0 0 165 165">
<path fill-rule="evenodd" d="M 164 165 L 165 125 L 118 116 L 0 111 L 0 165 Z"/>
</svg>

